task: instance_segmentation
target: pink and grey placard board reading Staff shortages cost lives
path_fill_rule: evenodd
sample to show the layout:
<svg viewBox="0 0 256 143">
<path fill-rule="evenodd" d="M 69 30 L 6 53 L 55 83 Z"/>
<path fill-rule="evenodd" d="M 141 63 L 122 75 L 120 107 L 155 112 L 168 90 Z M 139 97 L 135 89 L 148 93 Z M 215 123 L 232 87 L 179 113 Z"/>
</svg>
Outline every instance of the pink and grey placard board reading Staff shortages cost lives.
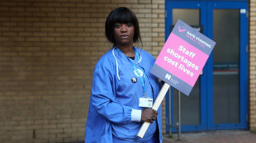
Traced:
<svg viewBox="0 0 256 143">
<path fill-rule="evenodd" d="M 215 44 L 178 20 L 150 72 L 189 95 Z"/>
</svg>

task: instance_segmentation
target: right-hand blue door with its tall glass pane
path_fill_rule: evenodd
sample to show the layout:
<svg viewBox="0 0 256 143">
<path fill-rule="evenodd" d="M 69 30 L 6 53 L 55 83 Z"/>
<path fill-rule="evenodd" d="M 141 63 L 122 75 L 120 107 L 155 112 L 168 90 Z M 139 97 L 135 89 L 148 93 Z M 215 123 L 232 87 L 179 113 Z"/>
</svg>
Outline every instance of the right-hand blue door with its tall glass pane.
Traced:
<svg viewBox="0 0 256 143">
<path fill-rule="evenodd" d="M 217 43 L 209 68 L 210 130 L 247 128 L 247 9 L 247 2 L 208 3 L 211 35 Z"/>
</svg>

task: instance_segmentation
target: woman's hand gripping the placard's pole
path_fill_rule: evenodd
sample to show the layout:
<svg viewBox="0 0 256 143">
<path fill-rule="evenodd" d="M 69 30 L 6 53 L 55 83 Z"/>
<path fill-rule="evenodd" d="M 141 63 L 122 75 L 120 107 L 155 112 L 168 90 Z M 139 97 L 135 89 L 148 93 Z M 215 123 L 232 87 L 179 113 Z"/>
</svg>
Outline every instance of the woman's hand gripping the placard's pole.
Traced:
<svg viewBox="0 0 256 143">
<path fill-rule="evenodd" d="M 145 108 L 141 113 L 141 121 L 152 123 L 156 120 L 158 112 L 152 108 Z"/>
</svg>

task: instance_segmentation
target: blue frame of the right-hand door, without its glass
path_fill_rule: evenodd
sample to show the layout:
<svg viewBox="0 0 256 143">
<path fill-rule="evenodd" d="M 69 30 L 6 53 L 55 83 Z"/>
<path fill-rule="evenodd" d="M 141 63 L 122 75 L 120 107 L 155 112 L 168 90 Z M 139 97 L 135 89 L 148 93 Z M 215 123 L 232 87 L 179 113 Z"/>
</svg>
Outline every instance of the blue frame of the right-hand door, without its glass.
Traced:
<svg viewBox="0 0 256 143">
<path fill-rule="evenodd" d="M 239 123 L 213 123 L 213 108 L 208 108 L 208 130 L 227 130 L 227 129 L 248 129 L 248 2 L 208 2 L 207 13 L 209 26 L 213 27 L 213 10 L 214 9 L 239 9 L 240 10 L 240 45 L 239 45 Z M 243 12 L 245 11 L 245 12 Z M 209 36 L 212 39 L 213 29 L 208 29 Z M 213 61 L 211 56 L 211 62 Z M 209 60 L 210 62 L 210 60 Z M 212 63 L 211 63 L 212 65 Z M 213 66 L 208 67 L 208 71 L 213 73 Z M 209 76 L 207 84 L 211 84 L 213 76 Z M 211 82 L 211 83 L 210 83 Z M 209 88 L 208 105 L 213 107 L 213 86 Z"/>
</svg>

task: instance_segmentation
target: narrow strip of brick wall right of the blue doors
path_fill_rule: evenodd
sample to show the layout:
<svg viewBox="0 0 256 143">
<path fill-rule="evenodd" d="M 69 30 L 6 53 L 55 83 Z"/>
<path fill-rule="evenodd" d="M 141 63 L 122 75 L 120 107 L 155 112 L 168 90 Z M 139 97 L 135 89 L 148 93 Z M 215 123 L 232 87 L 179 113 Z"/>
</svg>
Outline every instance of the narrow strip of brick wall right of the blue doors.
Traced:
<svg viewBox="0 0 256 143">
<path fill-rule="evenodd" d="M 256 130 L 256 0 L 249 1 L 249 129 Z"/>
</svg>

